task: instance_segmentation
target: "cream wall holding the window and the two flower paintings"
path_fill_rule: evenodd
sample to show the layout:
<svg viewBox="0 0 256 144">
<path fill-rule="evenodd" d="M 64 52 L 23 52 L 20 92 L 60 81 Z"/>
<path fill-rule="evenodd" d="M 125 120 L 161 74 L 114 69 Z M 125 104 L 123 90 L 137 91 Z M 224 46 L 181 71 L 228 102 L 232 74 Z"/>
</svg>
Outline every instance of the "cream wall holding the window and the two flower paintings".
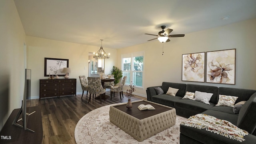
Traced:
<svg viewBox="0 0 256 144">
<path fill-rule="evenodd" d="M 158 40 L 118 49 L 117 66 L 121 68 L 121 54 L 144 51 L 144 90 L 136 93 L 146 96 L 146 88 L 162 82 L 201 84 L 217 87 L 256 89 L 256 19 L 185 34 L 170 38 L 162 46 Z M 182 54 L 227 50 L 236 48 L 236 84 L 212 84 L 182 81 Z M 126 90 L 128 87 L 125 87 Z"/>
</svg>

